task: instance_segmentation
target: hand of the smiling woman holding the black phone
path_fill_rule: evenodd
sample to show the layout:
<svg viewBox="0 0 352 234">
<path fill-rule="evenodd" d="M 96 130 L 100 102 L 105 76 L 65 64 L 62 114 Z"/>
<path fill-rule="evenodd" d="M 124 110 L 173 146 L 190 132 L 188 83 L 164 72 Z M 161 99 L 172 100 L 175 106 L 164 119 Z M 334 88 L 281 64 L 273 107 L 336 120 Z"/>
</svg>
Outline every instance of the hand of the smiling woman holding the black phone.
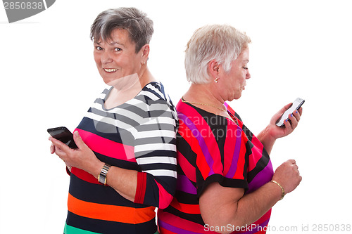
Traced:
<svg viewBox="0 0 352 234">
<path fill-rule="evenodd" d="M 73 140 L 78 147 L 76 149 L 71 149 L 65 143 L 50 136 L 49 141 L 52 143 L 50 147 L 51 154 L 56 153 L 69 168 L 77 167 L 89 172 L 100 161 L 96 158 L 94 152 L 82 141 L 78 131 L 73 133 Z"/>
</svg>

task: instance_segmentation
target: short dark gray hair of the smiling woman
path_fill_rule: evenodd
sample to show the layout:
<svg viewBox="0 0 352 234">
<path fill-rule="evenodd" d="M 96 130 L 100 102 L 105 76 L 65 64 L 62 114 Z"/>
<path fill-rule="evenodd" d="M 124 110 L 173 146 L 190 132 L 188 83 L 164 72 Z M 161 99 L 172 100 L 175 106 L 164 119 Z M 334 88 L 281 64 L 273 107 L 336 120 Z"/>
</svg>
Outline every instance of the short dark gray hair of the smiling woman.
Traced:
<svg viewBox="0 0 352 234">
<path fill-rule="evenodd" d="M 136 44 L 136 53 L 149 44 L 153 35 L 153 21 L 137 8 L 115 8 L 100 13 L 94 20 L 90 38 L 92 41 L 111 39 L 115 29 L 127 30 L 130 39 Z"/>
</svg>

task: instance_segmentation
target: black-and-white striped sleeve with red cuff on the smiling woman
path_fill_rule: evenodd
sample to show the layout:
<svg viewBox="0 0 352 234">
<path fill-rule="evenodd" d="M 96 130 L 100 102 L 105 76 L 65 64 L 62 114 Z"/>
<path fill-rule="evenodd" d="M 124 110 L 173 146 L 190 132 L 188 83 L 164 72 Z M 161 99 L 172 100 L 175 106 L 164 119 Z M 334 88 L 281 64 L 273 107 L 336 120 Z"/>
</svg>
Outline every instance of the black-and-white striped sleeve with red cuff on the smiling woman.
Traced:
<svg viewBox="0 0 352 234">
<path fill-rule="evenodd" d="M 134 202 L 165 208 L 176 189 L 177 114 L 170 100 L 165 99 L 168 97 L 155 85 L 146 86 L 135 98 L 141 101 L 135 105 L 141 109 L 135 111 L 141 119 L 135 127 L 134 155 L 142 171 L 137 176 Z"/>
</svg>

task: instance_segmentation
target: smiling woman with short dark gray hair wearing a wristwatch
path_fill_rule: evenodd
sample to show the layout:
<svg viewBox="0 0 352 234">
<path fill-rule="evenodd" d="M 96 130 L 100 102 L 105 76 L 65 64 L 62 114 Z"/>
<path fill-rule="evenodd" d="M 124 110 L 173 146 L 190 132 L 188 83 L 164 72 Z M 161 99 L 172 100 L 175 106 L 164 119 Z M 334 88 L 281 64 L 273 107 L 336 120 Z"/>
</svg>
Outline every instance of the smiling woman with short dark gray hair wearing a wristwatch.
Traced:
<svg viewBox="0 0 352 234">
<path fill-rule="evenodd" d="M 110 87 L 51 153 L 70 174 L 64 233 L 156 233 L 156 207 L 176 187 L 175 107 L 147 67 L 153 22 L 136 8 L 103 11 L 91 27 L 94 60 Z"/>
</svg>

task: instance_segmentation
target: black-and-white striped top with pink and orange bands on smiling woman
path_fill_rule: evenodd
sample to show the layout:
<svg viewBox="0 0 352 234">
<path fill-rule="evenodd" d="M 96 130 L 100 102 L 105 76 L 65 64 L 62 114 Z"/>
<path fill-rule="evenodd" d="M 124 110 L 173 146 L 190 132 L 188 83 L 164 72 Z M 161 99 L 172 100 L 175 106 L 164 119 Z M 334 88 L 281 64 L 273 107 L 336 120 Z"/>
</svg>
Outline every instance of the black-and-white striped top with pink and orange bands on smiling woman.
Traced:
<svg viewBox="0 0 352 234">
<path fill-rule="evenodd" d="M 102 162 L 138 171 L 135 199 L 72 168 L 66 234 L 156 233 L 155 208 L 168 207 L 175 193 L 177 113 L 163 85 L 151 82 L 107 110 L 110 90 L 95 100 L 76 130 Z"/>
</svg>

